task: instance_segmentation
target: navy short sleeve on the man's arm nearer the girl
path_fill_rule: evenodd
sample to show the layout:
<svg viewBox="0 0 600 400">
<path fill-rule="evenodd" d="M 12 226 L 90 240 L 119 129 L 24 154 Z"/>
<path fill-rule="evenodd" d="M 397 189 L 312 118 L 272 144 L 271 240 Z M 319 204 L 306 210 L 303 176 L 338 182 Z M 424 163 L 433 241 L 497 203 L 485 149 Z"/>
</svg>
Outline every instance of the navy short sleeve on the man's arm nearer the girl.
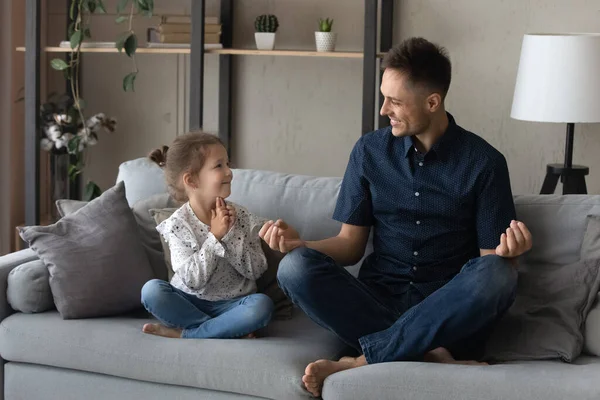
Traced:
<svg viewBox="0 0 600 400">
<path fill-rule="evenodd" d="M 373 209 L 369 182 L 364 176 L 364 148 L 359 140 L 350 153 L 333 219 L 345 224 L 371 226 Z"/>
</svg>

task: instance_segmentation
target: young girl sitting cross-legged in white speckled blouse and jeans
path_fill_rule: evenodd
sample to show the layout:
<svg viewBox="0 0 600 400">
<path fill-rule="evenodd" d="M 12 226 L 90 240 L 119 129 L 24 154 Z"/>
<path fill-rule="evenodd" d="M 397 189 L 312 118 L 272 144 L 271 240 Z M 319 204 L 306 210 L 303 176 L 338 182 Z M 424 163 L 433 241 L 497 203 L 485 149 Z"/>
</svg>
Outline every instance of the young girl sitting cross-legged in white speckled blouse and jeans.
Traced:
<svg viewBox="0 0 600 400">
<path fill-rule="evenodd" d="M 142 303 L 161 324 L 143 331 L 176 338 L 253 337 L 271 320 L 273 301 L 256 292 L 267 261 L 261 219 L 225 202 L 232 172 L 221 141 L 207 133 L 179 136 L 150 154 L 171 195 L 185 202 L 156 229 L 171 252 L 171 282 L 142 288 Z"/>
</svg>

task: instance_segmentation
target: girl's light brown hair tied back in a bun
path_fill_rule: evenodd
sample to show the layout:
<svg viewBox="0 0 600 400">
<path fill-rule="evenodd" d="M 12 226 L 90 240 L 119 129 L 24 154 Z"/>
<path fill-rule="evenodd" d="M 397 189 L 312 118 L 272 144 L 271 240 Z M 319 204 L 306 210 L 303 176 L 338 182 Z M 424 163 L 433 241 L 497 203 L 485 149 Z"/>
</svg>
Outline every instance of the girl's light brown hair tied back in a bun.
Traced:
<svg viewBox="0 0 600 400">
<path fill-rule="evenodd" d="M 223 142 L 210 133 L 190 132 L 178 136 L 171 147 L 162 146 L 148 155 L 164 170 L 167 187 L 175 200 L 182 203 L 188 200 L 181 177 L 185 173 L 198 174 L 209 147 L 214 145 L 223 146 Z"/>
</svg>

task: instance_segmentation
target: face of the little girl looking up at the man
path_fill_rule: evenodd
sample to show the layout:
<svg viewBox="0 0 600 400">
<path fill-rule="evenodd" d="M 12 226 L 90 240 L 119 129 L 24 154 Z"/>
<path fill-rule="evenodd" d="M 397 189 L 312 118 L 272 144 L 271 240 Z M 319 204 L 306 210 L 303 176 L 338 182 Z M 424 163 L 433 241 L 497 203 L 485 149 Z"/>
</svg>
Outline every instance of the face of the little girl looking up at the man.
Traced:
<svg viewBox="0 0 600 400">
<path fill-rule="evenodd" d="M 188 197 L 202 203 L 214 202 L 217 197 L 227 198 L 231 194 L 233 174 L 229 168 L 229 157 L 222 145 L 210 146 L 204 166 L 191 184 L 186 182 Z M 191 186 L 191 187 L 190 187 Z M 191 189 L 191 190 L 190 190 Z"/>
</svg>

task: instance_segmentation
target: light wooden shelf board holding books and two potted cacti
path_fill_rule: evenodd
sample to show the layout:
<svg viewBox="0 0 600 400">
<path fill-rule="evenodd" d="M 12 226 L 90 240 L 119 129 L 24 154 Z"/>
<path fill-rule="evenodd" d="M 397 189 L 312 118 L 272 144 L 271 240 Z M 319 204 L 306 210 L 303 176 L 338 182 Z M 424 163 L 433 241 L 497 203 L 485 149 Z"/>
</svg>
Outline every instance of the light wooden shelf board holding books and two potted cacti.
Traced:
<svg viewBox="0 0 600 400">
<path fill-rule="evenodd" d="M 24 52 L 25 47 L 17 47 L 17 51 Z M 45 47 L 46 53 L 70 53 L 70 48 L 65 47 Z M 111 47 L 85 47 L 81 49 L 82 53 L 118 53 L 116 48 Z M 190 54 L 190 49 L 159 49 L 139 47 L 136 50 L 138 54 Z M 363 58 L 361 52 L 317 52 L 308 50 L 250 50 L 250 49 L 207 49 L 206 54 L 230 54 L 241 56 L 284 56 L 284 57 L 323 57 L 323 58 Z M 384 53 L 377 54 L 382 58 Z"/>
</svg>

